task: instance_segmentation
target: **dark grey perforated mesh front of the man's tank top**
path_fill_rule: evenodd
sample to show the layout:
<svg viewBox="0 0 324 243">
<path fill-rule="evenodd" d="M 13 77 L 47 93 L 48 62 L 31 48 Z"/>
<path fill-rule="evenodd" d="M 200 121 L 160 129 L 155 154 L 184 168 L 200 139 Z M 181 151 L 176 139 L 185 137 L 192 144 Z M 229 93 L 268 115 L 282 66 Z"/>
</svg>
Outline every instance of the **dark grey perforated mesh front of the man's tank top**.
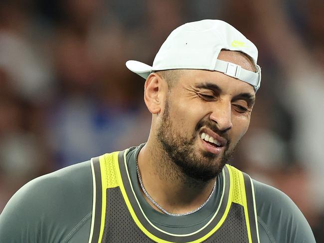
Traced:
<svg viewBox="0 0 324 243">
<path fill-rule="evenodd" d="M 133 221 L 119 188 L 107 189 L 104 243 L 152 243 Z M 223 225 L 204 243 L 248 242 L 243 207 L 233 203 Z"/>
</svg>

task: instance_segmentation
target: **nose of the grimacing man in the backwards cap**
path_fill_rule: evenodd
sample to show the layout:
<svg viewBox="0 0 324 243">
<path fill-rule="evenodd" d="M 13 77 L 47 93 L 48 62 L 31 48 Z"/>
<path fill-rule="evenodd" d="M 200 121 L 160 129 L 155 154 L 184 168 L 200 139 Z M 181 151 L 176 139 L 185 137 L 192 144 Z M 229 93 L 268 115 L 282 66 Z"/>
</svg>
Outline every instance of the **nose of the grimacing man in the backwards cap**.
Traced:
<svg viewBox="0 0 324 243">
<path fill-rule="evenodd" d="M 230 102 L 219 101 L 210 113 L 209 119 L 216 122 L 220 131 L 226 132 L 232 128 L 232 105 Z"/>
</svg>

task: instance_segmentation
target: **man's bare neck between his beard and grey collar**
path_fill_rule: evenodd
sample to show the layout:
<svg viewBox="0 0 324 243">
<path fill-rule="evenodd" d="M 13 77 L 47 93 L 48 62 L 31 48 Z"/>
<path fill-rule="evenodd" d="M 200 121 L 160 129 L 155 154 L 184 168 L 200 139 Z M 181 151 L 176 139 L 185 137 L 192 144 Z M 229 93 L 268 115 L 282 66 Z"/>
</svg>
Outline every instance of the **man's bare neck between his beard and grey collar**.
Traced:
<svg viewBox="0 0 324 243">
<path fill-rule="evenodd" d="M 201 182 L 184 175 L 169 159 L 161 144 L 150 139 L 139 153 L 138 166 L 148 194 L 163 209 L 173 214 L 183 214 L 198 208 L 207 200 L 215 184 L 215 179 Z"/>
</svg>

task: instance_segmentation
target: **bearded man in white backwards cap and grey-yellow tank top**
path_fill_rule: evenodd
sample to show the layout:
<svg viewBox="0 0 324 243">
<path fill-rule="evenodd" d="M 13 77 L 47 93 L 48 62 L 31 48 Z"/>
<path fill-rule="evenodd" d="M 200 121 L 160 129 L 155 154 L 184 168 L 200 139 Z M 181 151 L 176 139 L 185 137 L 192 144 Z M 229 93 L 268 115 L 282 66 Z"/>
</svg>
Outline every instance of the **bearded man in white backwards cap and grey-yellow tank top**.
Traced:
<svg viewBox="0 0 324 243">
<path fill-rule="evenodd" d="M 248 129 L 261 70 L 255 45 L 220 20 L 186 23 L 146 78 L 146 144 L 22 187 L 0 217 L 0 242 L 315 242 L 282 192 L 226 162 Z"/>
</svg>

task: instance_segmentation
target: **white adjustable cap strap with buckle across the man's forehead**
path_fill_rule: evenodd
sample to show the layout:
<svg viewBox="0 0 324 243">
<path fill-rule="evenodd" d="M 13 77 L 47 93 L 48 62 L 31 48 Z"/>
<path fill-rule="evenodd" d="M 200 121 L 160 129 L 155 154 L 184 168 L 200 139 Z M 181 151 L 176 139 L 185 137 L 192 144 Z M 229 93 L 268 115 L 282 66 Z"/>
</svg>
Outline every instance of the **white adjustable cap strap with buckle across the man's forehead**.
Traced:
<svg viewBox="0 0 324 243">
<path fill-rule="evenodd" d="M 258 66 L 256 66 L 256 68 L 257 72 L 252 72 L 242 68 L 240 65 L 217 59 L 214 70 L 247 82 L 257 91 L 260 87 L 261 74 L 260 68 Z"/>
</svg>

